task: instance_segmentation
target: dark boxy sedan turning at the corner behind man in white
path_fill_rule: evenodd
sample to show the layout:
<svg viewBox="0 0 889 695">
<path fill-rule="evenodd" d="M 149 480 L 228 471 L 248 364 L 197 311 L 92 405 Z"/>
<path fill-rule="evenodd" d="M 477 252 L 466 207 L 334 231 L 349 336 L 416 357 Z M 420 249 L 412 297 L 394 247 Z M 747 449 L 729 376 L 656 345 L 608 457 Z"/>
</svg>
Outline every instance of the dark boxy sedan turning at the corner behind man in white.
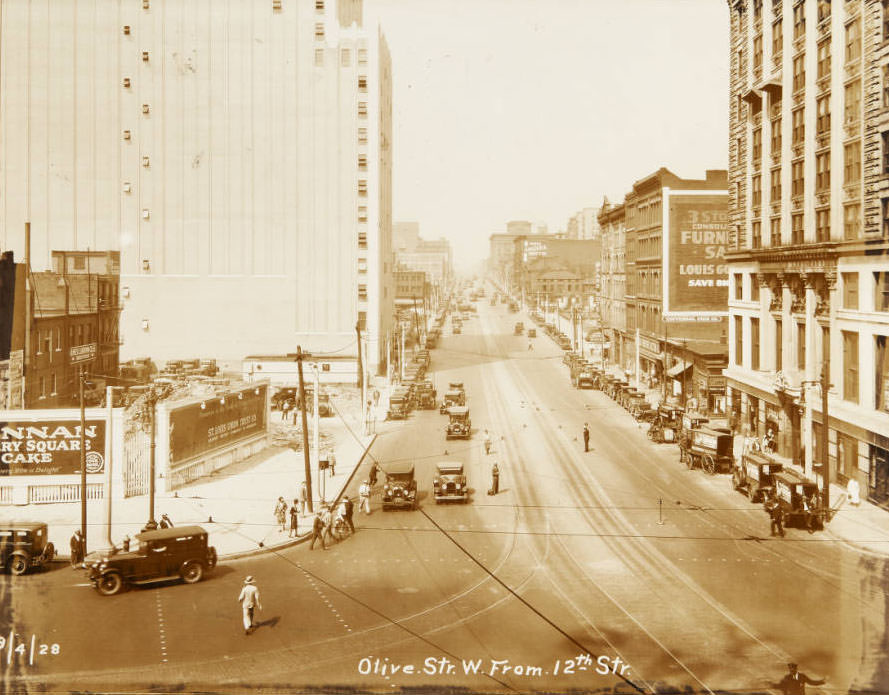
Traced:
<svg viewBox="0 0 889 695">
<path fill-rule="evenodd" d="M 148 584 L 181 578 L 195 584 L 216 567 L 216 549 L 200 526 L 137 533 L 129 550 L 111 548 L 90 553 L 85 561 L 89 579 L 103 596 L 119 593 L 128 584 Z"/>
</svg>

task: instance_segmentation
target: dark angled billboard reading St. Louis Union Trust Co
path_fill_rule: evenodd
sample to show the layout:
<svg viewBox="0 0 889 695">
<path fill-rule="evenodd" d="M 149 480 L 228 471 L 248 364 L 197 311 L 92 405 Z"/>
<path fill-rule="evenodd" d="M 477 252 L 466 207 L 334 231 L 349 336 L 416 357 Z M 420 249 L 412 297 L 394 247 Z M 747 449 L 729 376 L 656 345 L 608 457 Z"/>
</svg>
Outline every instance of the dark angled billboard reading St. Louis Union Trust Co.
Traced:
<svg viewBox="0 0 889 695">
<path fill-rule="evenodd" d="M 171 410 L 170 463 L 265 432 L 267 389 L 263 384 Z"/>
</svg>

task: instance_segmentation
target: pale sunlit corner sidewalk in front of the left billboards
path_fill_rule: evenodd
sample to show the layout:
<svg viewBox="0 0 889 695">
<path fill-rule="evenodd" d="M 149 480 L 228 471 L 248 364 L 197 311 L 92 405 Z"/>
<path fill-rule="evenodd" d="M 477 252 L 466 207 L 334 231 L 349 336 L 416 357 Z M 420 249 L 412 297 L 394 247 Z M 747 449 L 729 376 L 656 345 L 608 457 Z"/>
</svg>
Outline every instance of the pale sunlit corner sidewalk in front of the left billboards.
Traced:
<svg viewBox="0 0 889 695">
<path fill-rule="evenodd" d="M 280 427 L 279 418 L 280 414 L 273 411 L 273 431 L 276 426 Z M 328 470 L 319 485 L 319 471 L 312 462 L 315 511 L 319 509 L 322 492 L 328 501 L 337 499 L 376 438 L 373 431 L 365 436 L 362 424 L 356 420 L 345 413 L 343 417 L 334 415 L 321 419 L 321 449 L 334 451 L 336 468 L 334 475 Z M 309 441 L 311 446 L 311 436 Z M 299 535 L 295 538 L 289 537 L 289 514 L 283 532 L 274 517 L 278 497 L 284 497 L 289 509 L 298 497 L 304 478 L 303 452 L 271 445 L 249 459 L 178 490 L 158 492 L 154 517 L 159 521 L 161 514 L 167 514 L 176 526 L 202 526 L 209 532 L 210 544 L 222 558 L 284 547 L 308 538 L 311 531 L 312 516 L 308 513 L 300 515 Z M 88 552 L 108 547 L 104 509 L 104 500 L 89 500 L 87 503 Z M 16 510 L 13 513 L 21 517 L 24 512 Z M 55 544 L 57 555 L 67 559 L 71 535 L 80 528 L 80 503 L 32 505 L 26 514 L 30 519 L 49 525 L 49 539 Z M 148 519 L 148 496 L 112 500 L 111 516 L 113 543 L 119 544 L 124 535 L 134 537 Z"/>
</svg>

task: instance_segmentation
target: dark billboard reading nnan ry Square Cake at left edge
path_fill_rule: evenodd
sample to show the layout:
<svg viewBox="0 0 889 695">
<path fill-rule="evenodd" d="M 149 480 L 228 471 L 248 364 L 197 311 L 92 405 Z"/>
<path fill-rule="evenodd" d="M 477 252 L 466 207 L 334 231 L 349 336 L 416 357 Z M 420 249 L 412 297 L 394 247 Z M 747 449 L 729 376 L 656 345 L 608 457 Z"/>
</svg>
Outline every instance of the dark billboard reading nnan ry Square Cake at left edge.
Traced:
<svg viewBox="0 0 889 695">
<path fill-rule="evenodd" d="M 86 420 L 86 472 L 105 469 L 105 421 Z M 80 420 L 0 422 L 0 476 L 80 473 Z"/>
</svg>

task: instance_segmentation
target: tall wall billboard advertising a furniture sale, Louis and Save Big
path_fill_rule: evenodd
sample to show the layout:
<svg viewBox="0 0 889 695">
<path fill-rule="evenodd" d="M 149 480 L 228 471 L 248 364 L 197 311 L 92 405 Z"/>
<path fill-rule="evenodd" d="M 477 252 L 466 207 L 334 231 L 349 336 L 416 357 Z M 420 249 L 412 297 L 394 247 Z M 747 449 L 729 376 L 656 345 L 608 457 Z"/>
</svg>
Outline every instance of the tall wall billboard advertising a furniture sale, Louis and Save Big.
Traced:
<svg viewBox="0 0 889 695">
<path fill-rule="evenodd" d="M 728 311 L 728 195 L 725 192 L 668 193 L 664 220 L 666 312 Z"/>
</svg>

